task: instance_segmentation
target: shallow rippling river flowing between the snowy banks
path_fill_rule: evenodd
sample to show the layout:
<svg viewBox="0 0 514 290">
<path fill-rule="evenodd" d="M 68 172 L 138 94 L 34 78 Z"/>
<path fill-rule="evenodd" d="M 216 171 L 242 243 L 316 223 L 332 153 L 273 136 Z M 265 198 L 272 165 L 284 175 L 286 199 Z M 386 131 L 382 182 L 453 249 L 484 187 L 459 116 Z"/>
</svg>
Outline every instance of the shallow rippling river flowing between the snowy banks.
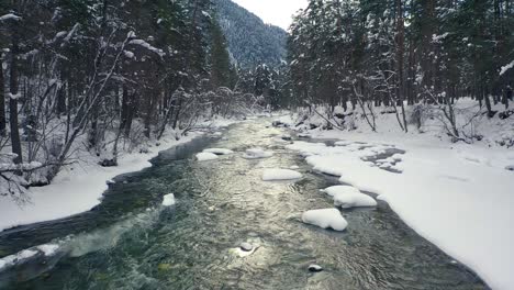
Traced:
<svg viewBox="0 0 514 290">
<path fill-rule="evenodd" d="M 90 212 L 0 233 L 0 257 L 42 244 L 51 255 L 0 271 L 1 289 L 487 289 L 420 237 L 386 203 L 344 210 L 334 232 L 303 224 L 306 210 L 333 208 L 319 189 L 336 183 L 283 148 L 259 119 L 163 152 L 154 167 L 120 176 Z M 241 157 L 250 147 L 267 159 Z M 234 155 L 195 161 L 205 147 Z M 261 181 L 264 168 L 299 166 L 297 182 Z M 174 193 L 177 204 L 161 207 Z M 72 194 L 72 192 L 70 192 Z M 248 242 L 250 255 L 239 250 Z M 310 264 L 322 272 L 310 272 Z M 1 267 L 0 267 L 1 268 Z"/>
</svg>

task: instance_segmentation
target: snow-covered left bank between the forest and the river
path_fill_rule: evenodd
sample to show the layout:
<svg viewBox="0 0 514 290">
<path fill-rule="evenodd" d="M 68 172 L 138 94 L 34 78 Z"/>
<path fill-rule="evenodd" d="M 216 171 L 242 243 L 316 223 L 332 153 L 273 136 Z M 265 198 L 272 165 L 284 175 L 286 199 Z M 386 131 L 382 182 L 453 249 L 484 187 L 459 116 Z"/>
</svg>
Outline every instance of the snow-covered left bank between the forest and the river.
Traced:
<svg viewBox="0 0 514 290">
<path fill-rule="evenodd" d="M 116 167 L 101 167 L 96 160 L 67 166 L 52 185 L 31 188 L 26 196 L 29 202 L 22 204 L 10 197 L 0 197 L 0 231 L 89 211 L 101 202 L 102 193 L 108 189 L 107 180 L 150 167 L 148 160 L 158 155 L 159 148 L 183 144 L 198 135 L 193 132 L 180 141 L 176 141 L 172 134 L 165 135 L 160 141 L 161 146 L 150 147 L 145 154 L 122 155 Z"/>
</svg>

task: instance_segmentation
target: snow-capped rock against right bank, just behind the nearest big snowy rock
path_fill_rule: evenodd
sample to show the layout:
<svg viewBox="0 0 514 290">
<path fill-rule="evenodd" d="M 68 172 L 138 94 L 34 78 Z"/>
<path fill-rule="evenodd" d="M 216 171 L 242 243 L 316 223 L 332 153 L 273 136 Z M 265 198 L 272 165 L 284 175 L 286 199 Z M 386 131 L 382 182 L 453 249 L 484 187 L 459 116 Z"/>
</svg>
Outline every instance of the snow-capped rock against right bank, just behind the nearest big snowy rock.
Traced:
<svg viewBox="0 0 514 290">
<path fill-rule="evenodd" d="M 334 204 L 343 209 L 377 207 L 377 201 L 360 190 L 349 186 L 335 186 L 322 190 L 334 198 Z"/>
</svg>

